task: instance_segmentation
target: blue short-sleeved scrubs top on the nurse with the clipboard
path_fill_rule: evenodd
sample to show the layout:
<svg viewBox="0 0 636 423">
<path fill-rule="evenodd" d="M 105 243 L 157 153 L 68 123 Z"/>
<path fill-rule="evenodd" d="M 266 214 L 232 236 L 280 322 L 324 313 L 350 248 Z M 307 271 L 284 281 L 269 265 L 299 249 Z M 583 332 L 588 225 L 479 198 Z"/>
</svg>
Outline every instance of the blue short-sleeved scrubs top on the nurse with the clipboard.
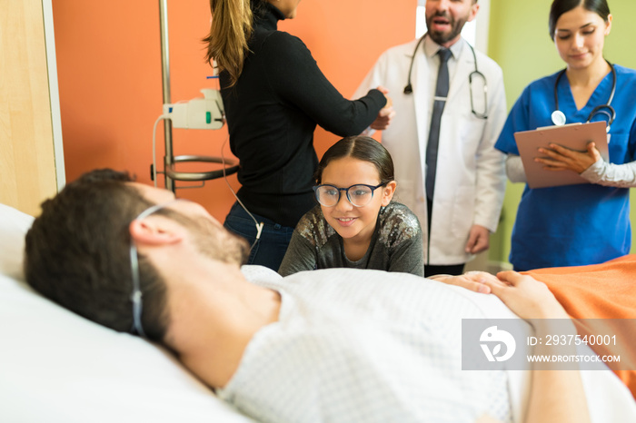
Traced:
<svg viewBox="0 0 636 423">
<path fill-rule="evenodd" d="M 615 65 L 616 93 L 611 102 L 610 162 L 634 160 L 636 150 L 636 71 Z M 512 107 L 495 147 L 519 154 L 514 133 L 552 126 L 557 74 L 528 85 Z M 559 108 L 566 123 L 584 123 L 591 110 L 610 98 L 607 74 L 588 103 L 577 111 L 568 78 L 559 81 Z M 597 115 L 591 121 L 604 120 Z M 512 230 L 510 261 L 519 271 L 601 263 L 627 254 L 631 247 L 629 190 L 596 184 L 531 189 L 526 185 Z"/>
</svg>

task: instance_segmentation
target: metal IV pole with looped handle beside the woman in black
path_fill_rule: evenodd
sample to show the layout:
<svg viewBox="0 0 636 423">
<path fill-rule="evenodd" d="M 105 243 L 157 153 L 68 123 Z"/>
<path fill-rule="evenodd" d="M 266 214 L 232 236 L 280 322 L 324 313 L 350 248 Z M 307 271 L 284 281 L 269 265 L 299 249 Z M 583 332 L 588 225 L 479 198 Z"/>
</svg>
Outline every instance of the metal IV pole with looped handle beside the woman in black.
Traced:
<svg viewBox="0 0 636 423">
<path fill-rule="evenodd" d="M 161 27 L 161 75 L 164 91 L 164 104 L 171 103 L 170 96 L 170 44 L 168 41 L 168 0 L 159 0 L 159 24 Z M 222 178 L 238 172 L 239 165 L 233 160 L 223 160 L 219 157 L 201 155 L 173 154 L 173 123 L 170 119 L 164 119 L 164 178 L 165 189 L 174 192 L 174 181 L 208 181 Z M 222 163 L 225 169 L 212 172 L 176 172 L 174 166 L 177 162 L 210 162 Z M 157 172 L 158 173 L 158 172 Z"/>
</svg>

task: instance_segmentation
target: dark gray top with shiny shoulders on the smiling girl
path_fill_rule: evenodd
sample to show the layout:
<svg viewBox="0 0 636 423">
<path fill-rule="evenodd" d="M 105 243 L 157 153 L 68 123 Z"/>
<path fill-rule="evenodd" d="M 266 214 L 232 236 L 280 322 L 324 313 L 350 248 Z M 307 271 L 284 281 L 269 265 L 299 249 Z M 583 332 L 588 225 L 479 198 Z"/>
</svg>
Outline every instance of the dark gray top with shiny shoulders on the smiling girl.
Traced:
<svg viewBox="0 0 636 423">
<path fill-rule="evenodd" d="M 423 276 L 422 229 L 408 207 L 390 202 L 378 214 L 369 249 L 350 261 L 343 238 L 324 219 L 320 206 L 307 212 L 293 231 L 292 241 L 278 272 L 291 275 L 315 269 L 355 268 L 402 271 Z"/>
</svg>

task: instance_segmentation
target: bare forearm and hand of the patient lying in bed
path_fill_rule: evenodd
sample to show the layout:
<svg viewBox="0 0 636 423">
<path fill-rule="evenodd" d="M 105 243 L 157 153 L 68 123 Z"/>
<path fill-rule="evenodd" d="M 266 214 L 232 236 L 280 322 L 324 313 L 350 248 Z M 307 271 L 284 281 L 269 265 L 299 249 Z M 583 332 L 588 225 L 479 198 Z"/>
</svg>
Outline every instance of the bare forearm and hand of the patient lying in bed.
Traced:
<svg viewBox="0 0 636 423">
<path fill-rule="evenodd" d="M 554 333 L 550 330 L 552 319 L 569 319 L 544 283 L 515 271 L 502 271 L 497 277 L 500 280 L 487 279 L 484 283 L 514 313 L 530 320 L 538 337 L 542 337 L 543 333 Z M 541 348 L 543 350 L 535 352 L 550 353 L 548 349 L 551 347 Z M 581 374 L 562 369 L 532 371 L 532 389 L 525 421 L 589 422 Z"/>
</svg>

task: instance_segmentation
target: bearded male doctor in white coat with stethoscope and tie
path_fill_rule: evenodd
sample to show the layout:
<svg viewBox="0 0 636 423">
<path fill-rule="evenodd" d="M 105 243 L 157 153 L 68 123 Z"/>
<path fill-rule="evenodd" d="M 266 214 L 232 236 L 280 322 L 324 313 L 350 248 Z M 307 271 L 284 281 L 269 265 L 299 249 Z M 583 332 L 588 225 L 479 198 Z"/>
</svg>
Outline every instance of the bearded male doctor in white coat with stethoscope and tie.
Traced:
<svg viewBox="0 0 636 423">
<path fill-rule="evenodd" d="M 384 52 L 355 94 L 383 85 L 393 98 L 394 118 L 379 115 L 371 129 L 393 118 L 383 145 L 399 201 L 422 222 L 426 276 L 461 274 L 488 249 L 502 209 L 502 70 L 461 35 L 478 10 L 477 0 L 426 0 L 428 33 Z"/>
</svg>

